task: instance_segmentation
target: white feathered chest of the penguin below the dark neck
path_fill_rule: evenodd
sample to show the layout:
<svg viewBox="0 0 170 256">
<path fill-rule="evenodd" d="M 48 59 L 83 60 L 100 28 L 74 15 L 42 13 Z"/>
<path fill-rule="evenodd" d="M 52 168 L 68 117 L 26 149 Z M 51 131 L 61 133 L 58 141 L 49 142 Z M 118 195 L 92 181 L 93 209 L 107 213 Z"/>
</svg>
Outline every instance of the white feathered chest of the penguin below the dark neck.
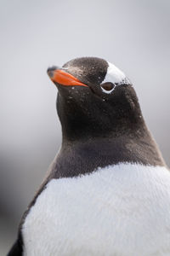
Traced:
<svg viewBox="0 0 170 256">
<path fill-rule="evenodd" d="M 170 255 L 170 173 L 121 164 L 53 179 L 22 231 L 25 256 Z"/>
</svg>

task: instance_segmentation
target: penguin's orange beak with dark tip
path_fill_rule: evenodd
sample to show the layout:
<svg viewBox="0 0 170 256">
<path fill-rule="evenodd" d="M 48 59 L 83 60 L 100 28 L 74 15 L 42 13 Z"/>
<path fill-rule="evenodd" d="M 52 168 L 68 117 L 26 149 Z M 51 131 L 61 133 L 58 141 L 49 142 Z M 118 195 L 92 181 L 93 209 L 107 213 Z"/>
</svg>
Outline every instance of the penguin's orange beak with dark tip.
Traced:
<svg viewBox="0 0 170 256">
<path fill-rule="evenodd" d="M 88 87 L 86 84 L 82 84 L 80 80 L 72 76 L 70 73 L 66 73 L 64 69 L 58 67 L 48 67 L 48 76 L 54 82 L 54 84 L 61 84 L 65 86 L 80 85 Z"/>
</svg>

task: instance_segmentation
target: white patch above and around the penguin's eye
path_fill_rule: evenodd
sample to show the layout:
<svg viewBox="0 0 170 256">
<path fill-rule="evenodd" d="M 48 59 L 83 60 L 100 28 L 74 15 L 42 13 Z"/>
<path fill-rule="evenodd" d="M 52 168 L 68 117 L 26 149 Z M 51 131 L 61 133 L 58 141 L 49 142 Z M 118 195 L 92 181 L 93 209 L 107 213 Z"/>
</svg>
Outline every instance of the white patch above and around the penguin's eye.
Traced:
<svg viewBox="0 0 170 256">
<path fill-rule="evenodd" d="M 112 83 L 116 86 L 121 84 L 131 84 L 129 79 L 127 79 L 126 75 L 119 68 L 117 68 L 110 62 L 108 62 L 108 65 L 109 66 L 107 67 L 107 73 L 105 75 L 105 79 L 102 81 L 102 84 Z M 111 93 L 111 91 L 113 91 L 116 88 L 116 86 L 114 86 L 112 90 L 104 90 L 102 87 L 101 89 L 105 93 Z"/>
</svg>

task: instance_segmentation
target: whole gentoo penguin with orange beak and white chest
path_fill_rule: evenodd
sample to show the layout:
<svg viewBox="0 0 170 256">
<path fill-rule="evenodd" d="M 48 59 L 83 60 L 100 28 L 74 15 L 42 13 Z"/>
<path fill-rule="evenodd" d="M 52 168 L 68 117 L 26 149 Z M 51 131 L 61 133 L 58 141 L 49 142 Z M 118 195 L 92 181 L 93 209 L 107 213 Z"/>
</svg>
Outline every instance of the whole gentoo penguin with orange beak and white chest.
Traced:
<svg viewBox="0 0 170 256">
<path fill-rule="evenodd" d="M 8 255 L 170 255 L 170 173 L 130 80 L 95 57 L 48 75 L 62 146 Z"/>
</svg>

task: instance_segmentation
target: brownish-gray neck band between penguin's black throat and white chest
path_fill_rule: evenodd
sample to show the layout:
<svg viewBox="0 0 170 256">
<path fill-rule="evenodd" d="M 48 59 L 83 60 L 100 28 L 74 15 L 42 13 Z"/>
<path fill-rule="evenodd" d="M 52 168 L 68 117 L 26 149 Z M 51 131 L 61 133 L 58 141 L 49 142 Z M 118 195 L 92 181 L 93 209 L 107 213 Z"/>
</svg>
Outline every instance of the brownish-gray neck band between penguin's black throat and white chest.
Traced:
<svg viewBox="0 0 170 256">
<path fill-rule="evenodd" d="M 95 137 L 88 140 L 71 141 L 66 138 L 54 161 L 53 175 L 77 177 L 94 172 L 99 167 L 115 166 L 120 163 L 144 166 L 165 166 L 156 143 L 145 127 L 135 135 L 119 137 Z"/>
</svg>

